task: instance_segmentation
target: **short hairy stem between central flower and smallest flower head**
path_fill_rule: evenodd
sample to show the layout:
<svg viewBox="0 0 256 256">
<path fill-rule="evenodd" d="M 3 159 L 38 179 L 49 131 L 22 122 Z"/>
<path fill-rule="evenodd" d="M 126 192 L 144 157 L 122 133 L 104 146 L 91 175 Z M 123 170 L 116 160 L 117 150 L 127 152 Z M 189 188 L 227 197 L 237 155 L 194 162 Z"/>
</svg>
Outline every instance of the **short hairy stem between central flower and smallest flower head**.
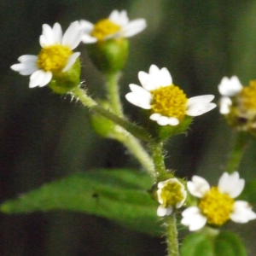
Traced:
<svg viewBox="0 0 256 256">
<path fill-rule="evenodd" d="M 163 154 L 163 143 L 150 143 L 151 152 L 153 155 L 154 168 L 157 176 L 166 173 L 166 164 Z"/>
</svg>

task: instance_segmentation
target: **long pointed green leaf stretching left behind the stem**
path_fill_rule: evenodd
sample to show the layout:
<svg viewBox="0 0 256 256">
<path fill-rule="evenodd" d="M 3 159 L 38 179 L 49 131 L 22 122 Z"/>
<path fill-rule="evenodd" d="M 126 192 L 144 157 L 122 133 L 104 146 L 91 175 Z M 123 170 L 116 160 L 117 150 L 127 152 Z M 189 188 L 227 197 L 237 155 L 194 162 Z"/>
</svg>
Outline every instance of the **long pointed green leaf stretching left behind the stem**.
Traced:
<svg viewBox="0 0 256 256">
<path fill-rule="evenodd" d="M 5 213 L 70 210 L 109 218 L 131 230 L 160 235 L 157 204 L 147 190 L 152 180 L 145 173 L 98 170 L 78 173 L 44 184 L 1 205 Z"/>
</svg>

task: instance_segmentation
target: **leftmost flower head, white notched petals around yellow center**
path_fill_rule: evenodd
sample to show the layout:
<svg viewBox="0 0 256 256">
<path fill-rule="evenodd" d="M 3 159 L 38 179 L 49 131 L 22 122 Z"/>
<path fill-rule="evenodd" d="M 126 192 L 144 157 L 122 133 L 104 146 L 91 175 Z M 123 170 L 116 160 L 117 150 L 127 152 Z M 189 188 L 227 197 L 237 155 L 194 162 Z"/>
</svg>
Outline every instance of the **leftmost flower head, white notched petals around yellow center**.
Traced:
<svg viewBox="0 0 256 256">
<path fill-rule="evenodd" d="M 38 55 L 22 55 L 19 64 L 11 68 L 21 75 L 31 75 L 29 87 L 43 87 L 49 84 L 55 74 L 65 73 L 73 66 L 79 52 L 73 52 L 80 41 L 81 31 L 79 21 L 73 22 L 62 35 L 61 25 L 55 23 L 53 27 L 43 25 L 43 32 L 39 38 L 42 47 Z"/>
</svg>

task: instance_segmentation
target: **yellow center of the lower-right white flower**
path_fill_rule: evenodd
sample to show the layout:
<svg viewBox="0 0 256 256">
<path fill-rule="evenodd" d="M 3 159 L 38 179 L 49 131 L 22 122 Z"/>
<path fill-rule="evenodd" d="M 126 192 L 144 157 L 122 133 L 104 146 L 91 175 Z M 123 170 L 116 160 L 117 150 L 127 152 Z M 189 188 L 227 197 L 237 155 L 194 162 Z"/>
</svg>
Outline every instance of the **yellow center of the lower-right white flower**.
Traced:
<svg viewBox="0 0 256 256">
<path fill-rule="evenodd" d="M 212 187 L 201 198 L 199 208 L 207 217 L 208 224 L 222 225 L 230 219 L 234 203 L 230 195 L 219 192 L 218 187 Z"/>
</svg>

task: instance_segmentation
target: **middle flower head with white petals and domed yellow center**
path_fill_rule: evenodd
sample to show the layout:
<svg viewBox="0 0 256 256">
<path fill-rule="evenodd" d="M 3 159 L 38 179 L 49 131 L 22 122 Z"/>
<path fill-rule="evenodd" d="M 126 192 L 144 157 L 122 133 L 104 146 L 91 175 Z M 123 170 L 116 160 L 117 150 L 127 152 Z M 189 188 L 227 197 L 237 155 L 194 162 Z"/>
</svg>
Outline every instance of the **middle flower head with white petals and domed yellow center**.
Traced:
<svg viewBox="0 0 256 256">
<path fill-rule="evenodd" d="M 151 65 L 148 73 L 138 73 L 138 79 L 143 87 L 130 84 L 131 92 L 125 97 L 137 107 L 151 109 L 149 119 L 159 125 L 178 125 L 185 115 L 198 116 L 216 107 L 212 95 L 188 99 L 183 90 L 172 84 L 172 76 L 166 67 L 160 69 Z"/>
</svg>

